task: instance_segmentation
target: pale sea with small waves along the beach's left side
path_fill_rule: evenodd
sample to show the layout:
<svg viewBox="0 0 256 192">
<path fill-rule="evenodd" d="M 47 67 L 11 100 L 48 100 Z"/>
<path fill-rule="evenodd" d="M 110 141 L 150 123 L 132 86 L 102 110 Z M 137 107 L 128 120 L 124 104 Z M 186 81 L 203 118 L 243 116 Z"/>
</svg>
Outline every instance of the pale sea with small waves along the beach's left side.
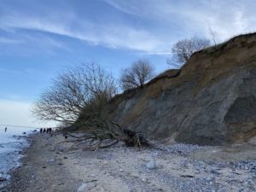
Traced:
<svg viewBox="0 0 256 192">
<path fill-rule="evenodd" d="M 8 181 L 9 173 L 20 166 L 20 152 L 29 146 L 26 137 L 35 130 L 29 127 L 0 125 L 0 180 L 5 178 Z M 0 181 L 0 191 L 5 183 Z"/>
</svg>

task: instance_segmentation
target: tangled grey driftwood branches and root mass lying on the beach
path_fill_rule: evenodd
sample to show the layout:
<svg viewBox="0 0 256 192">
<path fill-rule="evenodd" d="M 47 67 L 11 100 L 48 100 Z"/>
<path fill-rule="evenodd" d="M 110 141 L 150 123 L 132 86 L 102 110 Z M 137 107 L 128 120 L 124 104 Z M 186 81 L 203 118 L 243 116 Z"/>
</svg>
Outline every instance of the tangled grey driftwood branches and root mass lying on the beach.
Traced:
<svg viewBox="0 0 256 192">
<path fill-rule="evenodd" d="M 90 119 L 80 125 L 81 129 L 79 135 L 72 132 L 63 132 L 66 138 L 73 138 L 73 140 L 66 140 L 62 143 L 73 143 L 71 148 L 79 148 L 82 144 L 87 147 L 83 150 L 97 150 L 98 148 L 108 148 L 119 141 L 125 143 L 128 147 L 143 148 L 148 146 L 148 141 L 142 134 L 124 130 L 119 124 L 102 118 Z M 81 130 L 80 129 L 80 130 Z"/>
</svg>

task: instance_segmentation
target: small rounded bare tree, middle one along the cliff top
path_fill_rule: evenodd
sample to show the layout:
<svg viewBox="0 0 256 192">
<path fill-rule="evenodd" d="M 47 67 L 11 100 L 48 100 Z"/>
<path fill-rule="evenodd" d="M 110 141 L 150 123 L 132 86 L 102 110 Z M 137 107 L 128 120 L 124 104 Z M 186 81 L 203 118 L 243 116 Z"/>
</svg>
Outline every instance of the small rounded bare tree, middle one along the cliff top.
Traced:
<svg viewBox="0 0 256 192">
<path fill-rule="evenodd" d="M 154 77 L 154 67 L 148 60 L 138 60 L 131 67 L 123 70 L 120 83 L 123 90 L 135 87 L 143 88 L 143 85 Z"/>
</svg>

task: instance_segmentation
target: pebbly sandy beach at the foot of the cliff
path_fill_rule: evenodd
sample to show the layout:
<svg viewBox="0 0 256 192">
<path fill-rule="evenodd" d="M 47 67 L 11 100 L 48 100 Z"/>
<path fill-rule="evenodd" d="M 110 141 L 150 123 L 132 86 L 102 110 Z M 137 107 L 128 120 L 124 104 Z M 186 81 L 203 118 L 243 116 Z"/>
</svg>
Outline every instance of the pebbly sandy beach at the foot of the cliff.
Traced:
<svg viewBox="0 0 256 192">
<path fill-rule="evenodd" d="M 12 172 L 9 192 L 256 191 L 256 147 L 70 150 L 61 135 L 28 138 L 22 166 Z M 56 143 L 60 143 L 57 144 Z"/>
</svg>

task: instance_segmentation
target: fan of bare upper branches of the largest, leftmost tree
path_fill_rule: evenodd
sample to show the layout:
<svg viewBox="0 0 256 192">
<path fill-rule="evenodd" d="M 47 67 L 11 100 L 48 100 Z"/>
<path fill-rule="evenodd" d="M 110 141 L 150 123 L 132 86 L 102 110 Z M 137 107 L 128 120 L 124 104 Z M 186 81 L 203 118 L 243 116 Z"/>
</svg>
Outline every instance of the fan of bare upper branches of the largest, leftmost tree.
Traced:
<svg viewBox="0 0 256 192">
<path fill-rule="evenodd" d="M 116 94 L 116 87 L 110 73 L 94 62 L 86 63 L 59 75 L 39 97 L 32 113 L 41 120 L 73 124 L 92 103 L 91 113 L 102 108 L 102 103 Z"/>
</svg>

